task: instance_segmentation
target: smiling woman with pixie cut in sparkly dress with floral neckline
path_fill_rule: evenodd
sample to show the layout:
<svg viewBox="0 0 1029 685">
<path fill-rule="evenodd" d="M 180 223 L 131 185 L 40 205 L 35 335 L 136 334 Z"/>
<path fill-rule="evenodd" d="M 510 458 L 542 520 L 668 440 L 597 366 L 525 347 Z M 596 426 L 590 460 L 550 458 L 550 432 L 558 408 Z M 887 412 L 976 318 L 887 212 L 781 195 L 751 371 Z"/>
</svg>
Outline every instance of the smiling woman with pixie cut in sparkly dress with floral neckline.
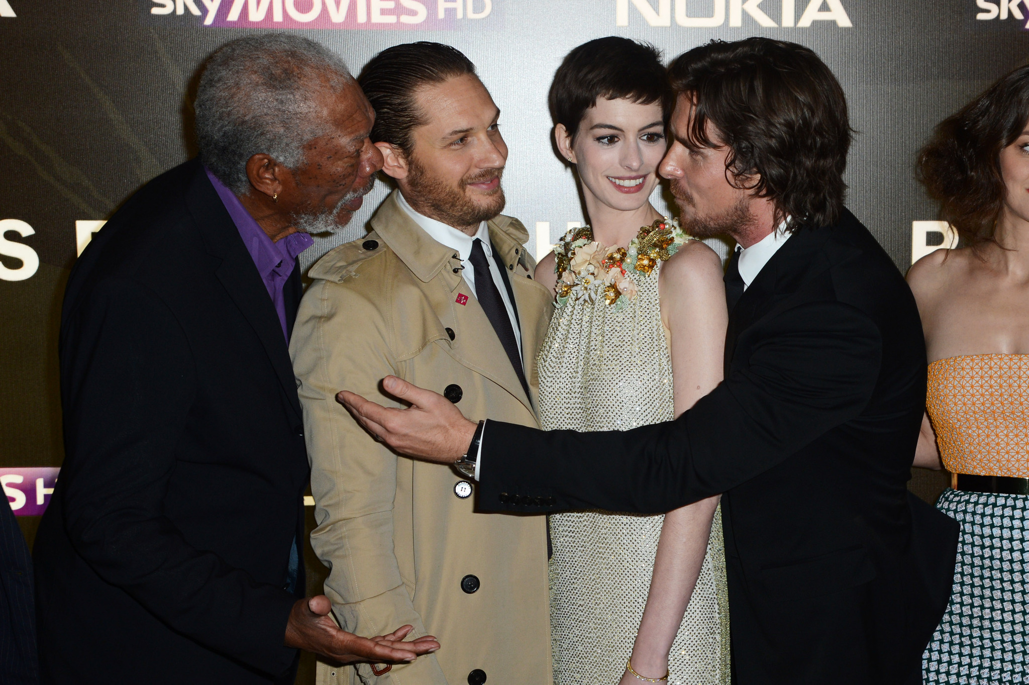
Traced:
<svg viewBox="0 0 1029 685">
<path fill-rule="evenodd" d="M 570 230 L 536 271 L 557 308 L 538 364 L 546 430 L 668 421 L 721 381 L 720 260 L 648 202 L 671 105 L 660 56 L 625 38 L 580 45 L 555 77 L 555 139 L 592 227 Z M 729 683 L 717 498 L 549 522 L 556 685 Z"/>
</svg>

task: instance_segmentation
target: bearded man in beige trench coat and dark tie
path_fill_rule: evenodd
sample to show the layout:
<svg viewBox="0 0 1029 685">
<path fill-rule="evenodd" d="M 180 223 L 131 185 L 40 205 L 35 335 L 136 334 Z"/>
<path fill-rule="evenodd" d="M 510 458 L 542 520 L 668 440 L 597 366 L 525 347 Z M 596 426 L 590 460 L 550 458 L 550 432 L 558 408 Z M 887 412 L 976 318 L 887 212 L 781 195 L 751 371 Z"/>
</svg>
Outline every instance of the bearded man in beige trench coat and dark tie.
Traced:
<svg viewBox="0 0 1029 685">
<path fill-rule="evenodd" d="M 471 478 L 397 457 L 334 399 L 347 388 L 398 406 L 379 386 L 392 373 L 471 419 L 537 425 L 535 361 L 553 295 L 531 279 L 525 227 L 499 214 L 499 110 L 471 63 L 434 43 L 385 50 L 359 82 L 398 190 L 370 233 L 311 269 L 293 328 L 318 521 L 311 542 L 345 629 L 410 623 L 411 637 L 434 635 L 441 647 L 388 671 L 320 663 L 318 681 L 544 685 L 544 517 L 475 513 Z"/>
</svg>

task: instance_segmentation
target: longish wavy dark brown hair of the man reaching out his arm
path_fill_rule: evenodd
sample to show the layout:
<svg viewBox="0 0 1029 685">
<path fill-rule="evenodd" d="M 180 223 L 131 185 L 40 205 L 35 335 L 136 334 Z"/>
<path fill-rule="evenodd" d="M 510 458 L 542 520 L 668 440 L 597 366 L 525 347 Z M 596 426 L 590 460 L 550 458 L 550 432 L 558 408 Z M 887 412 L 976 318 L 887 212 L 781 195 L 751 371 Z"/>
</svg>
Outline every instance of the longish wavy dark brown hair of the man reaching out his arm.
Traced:
<svg viewBox="0 0 1029 685">
<path fill-rule="evenodd" d="M 768 197 L 788 230 L 835 225 L 844 208 L 851 135 L 847 99 L 803 45 L 770 38 L 712 40 L 669 66 L 672 87 L 696 103 L 689 146 L 730 147 L 726 178 Z M 713 130 L 707 124 L 711 123 Z"/>
</svg>

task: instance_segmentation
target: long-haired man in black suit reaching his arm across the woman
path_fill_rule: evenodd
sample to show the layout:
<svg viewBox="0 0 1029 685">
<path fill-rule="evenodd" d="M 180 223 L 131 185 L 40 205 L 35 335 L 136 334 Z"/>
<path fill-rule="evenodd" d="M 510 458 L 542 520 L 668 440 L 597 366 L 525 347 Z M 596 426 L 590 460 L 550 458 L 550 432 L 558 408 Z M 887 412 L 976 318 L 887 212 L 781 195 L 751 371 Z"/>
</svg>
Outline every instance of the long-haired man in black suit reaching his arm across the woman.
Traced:
<svg viewBox="0 0 1029 685">
<path fill-rule="evenodd" d="M 721 493 L 734 682 L 919 683 L 957 526 L 907 492 L 925 347 L 911 291 L 843 206 L 843 91 L 810 49 L 766 38 L 698 47 L 670 75 L 661 173 L 687 232 L 739 243 L 721 385 L 674 422 L 605 433 L 476 427 L 397 378 L 407 410 L 340 399 L 400 452 L 460 458 L 483 510 L 653 513 Z"/>
</svg>

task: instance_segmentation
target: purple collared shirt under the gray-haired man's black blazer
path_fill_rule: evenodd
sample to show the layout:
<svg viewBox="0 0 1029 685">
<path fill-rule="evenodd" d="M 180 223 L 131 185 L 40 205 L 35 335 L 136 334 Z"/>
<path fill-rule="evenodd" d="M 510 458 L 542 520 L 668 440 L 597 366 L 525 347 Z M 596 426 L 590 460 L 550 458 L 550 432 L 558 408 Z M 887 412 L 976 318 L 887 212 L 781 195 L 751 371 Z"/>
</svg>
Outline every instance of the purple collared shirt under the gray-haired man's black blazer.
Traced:
<svg viewBox="0 0 1029 685">
<path fill-rule="evenodd" d="M 279 315 L 279 323 L 282 324 L 282 334 L 289 342 L 289 333 L 286 328 L 286 300 L 282 295 L 282 289 L 289 280 L 289 275 L 293 273 L 296 264 L 296 255 L 307 250 L 314 244 L 314 240 L 307 233 L 291 233 L 278 243 L 273 243 L 268 233 L 254 221 L 250 213 L 240 204 L 239 197 L 219 181 L 211 170 L 204 168 L 207 177 L 211 180 L 221 204 L 228 211 L 228 216 L 233 218 L 236 229 L 240 231 L 243 244 L 247 246 L 250 258 L 254 260 L 257 273 L 260 274 L 268 294 L 275 304 L 275 312 Z"/>
</svg>

